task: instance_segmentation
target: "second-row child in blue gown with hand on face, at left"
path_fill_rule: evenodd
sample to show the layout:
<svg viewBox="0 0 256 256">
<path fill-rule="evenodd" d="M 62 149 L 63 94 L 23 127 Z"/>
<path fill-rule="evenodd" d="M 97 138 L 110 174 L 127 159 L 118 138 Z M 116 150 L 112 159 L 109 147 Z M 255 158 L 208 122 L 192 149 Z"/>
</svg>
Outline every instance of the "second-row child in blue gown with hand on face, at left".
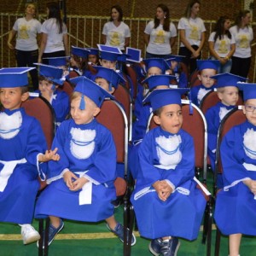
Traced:
<svg viewBox="0 0 256 256">
<path fill-rule="evenodd" d="M 55 111 L 56 124 L 60 125 L 67 118 L 70 109 L 69 96 L 65 91 L 57 89 L 63 84 L 63 70 L 59 67 L 38 65 L 40 74 L 38 92 L 50 103 Z"/>
</svg>

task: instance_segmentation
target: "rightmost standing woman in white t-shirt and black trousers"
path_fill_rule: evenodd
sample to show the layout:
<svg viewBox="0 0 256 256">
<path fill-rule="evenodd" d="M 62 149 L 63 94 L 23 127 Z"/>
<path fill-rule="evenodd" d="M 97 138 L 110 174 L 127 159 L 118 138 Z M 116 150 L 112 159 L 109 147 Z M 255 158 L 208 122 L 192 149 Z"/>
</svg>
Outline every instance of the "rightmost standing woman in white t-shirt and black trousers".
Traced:
<svg viewBox="0 0 256 256">
<path fill-rule="evenodd" d="M 230 73 L 247 78 L 251 65 L 251 42 L 253 29 L 249 26 L 251 14 L 249 10 L 241 10 L 236 17 L 235 26 L 230 27 L 230 32 L 236 41 L 236 51 L 232 56 Z"/>
</svg>

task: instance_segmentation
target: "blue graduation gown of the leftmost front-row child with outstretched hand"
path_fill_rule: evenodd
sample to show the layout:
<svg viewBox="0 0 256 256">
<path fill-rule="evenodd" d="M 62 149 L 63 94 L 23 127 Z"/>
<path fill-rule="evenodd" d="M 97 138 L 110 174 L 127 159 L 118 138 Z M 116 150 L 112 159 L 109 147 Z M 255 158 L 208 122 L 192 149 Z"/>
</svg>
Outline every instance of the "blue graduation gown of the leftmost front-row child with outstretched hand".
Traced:
<svg viewBox="0 0 256 256">
<path fill-rule="evenodd" d="M 37 159 L 38 154 L 43 154 L 46 148 L 41 125 L 37 119 L 26 115 L 24 108 L 0 113 L 0 183 L 2 185 L 3 161 L 8 165 L 11 161 L 24 160 L 24 163 L 20 162 L 14 167 L 5 188 L 1 186 L 0 222 L 32 223 L 39 189 L 38 174 L 44 180 L 43 172 L 47 170 L 47 164 L 38 165 Z M 8 169 L 10 171 L 10 168 Z"/>
</svg>

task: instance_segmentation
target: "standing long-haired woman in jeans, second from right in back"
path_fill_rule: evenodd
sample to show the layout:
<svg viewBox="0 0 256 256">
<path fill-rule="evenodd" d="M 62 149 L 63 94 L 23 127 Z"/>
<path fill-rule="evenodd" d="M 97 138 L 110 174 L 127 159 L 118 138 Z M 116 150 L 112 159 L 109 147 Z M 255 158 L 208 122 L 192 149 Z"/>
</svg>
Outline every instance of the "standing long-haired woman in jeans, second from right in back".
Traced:
<svg viewBox="0 0 256 256">
<path fill-rule="evenodd" d="M 236 50 L 236 42 L 229 29 L 230 18 L 221 16 L 208 40 L 211 59 L 220 62 L 218 73 L 230 73 L 232 66 L 230 58 Z"/>
</svg>

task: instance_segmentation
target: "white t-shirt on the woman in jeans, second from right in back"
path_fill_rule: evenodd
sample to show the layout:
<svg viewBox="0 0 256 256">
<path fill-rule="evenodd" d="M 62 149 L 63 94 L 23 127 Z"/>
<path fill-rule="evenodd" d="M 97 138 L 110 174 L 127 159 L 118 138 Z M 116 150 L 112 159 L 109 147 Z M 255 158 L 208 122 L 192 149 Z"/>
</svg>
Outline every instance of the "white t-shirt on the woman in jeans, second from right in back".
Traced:
<svg viewBox="0 0 256 256">
<path fill-rule="evenodd" d="M 214 43 L 214 37 L 216 32 L 212 32 L 208 41 L 213 42 L 214 44 L 214 50 L 218 53 L 220 57 L 225 57 L 229 54 L 231 49 L 231 44 L 236 44 L 235 38 L 231 34 L 231 38 L 229 38 L 227 35 L 222 36 L 222 38 L 219 40 L 219 38 L 216 39 Z"/>
</svg>

